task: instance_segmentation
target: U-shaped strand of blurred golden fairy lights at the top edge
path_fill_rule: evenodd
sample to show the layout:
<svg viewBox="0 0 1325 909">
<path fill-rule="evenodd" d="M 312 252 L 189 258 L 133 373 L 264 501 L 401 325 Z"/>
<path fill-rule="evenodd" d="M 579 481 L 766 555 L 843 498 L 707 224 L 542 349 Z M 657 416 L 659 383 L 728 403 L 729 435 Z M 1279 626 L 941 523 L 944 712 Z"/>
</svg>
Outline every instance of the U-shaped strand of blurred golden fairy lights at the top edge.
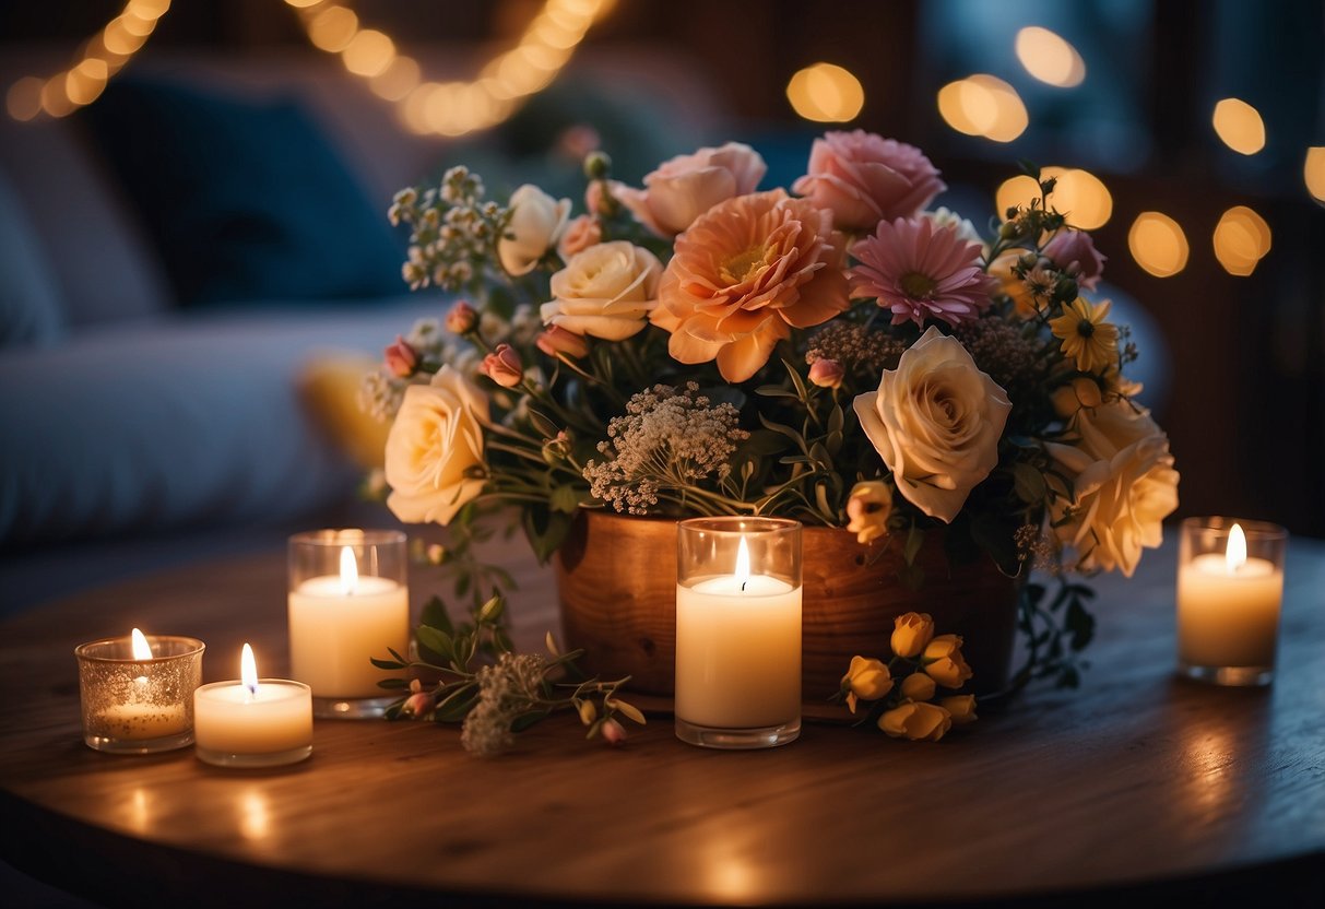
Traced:
<svg viewBox="0 0 1325 909">
<path fill-rule="evenodd" d="M 615 0 L 545 0 L 517 45 L 490 58 L 470 81 L 424 81 L 419 61 L 338 0 L 285 0 L 299 13 L 313 46 L 341 56 L 346 70 L 394 102 L 405 129 L 464 135 L 497 126 L 531 94 L 542 91 L 570 62 L 588 29 Z"/>
</svg>

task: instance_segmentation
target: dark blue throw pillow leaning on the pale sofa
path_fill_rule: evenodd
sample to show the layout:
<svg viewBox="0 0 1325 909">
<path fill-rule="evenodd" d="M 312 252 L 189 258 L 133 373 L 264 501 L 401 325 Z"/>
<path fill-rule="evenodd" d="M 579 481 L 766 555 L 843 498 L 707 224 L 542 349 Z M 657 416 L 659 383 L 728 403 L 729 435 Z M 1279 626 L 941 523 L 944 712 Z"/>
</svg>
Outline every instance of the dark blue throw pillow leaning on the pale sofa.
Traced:
<svg viewBox="0 0 1325 909">
<path fill-rule="evenodd" d="M 80 118 L 179 302 L 399 294 L 404 242 L 294 101 L 118 78 Z"/>
</svg>

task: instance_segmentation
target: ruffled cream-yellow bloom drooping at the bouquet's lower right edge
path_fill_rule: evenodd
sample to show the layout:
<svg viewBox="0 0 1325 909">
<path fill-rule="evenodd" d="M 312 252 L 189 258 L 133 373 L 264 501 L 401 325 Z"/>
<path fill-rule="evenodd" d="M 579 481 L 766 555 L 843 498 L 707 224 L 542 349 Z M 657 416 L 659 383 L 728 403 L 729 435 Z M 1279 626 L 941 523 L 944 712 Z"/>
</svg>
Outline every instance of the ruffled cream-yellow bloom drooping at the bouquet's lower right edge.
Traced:
<svg viewBox="0 0 1325 909">
<path fill-rule="evenodd" d="M 1076 547 L 1083 568 L 1132 576 L 1143 546 L 1159 546 L 1162 522 L 1178 508 L 1178 472 L 1169 437 L 1150 411 L 1113 400 L 1079 411 L 1076 445 L 1049 443 L 1049 453 L 1073 477 L 1075 511 L 1056 529 Z M 1067 506 L 1055 508 L 1059 523 Z"/>
</svg>

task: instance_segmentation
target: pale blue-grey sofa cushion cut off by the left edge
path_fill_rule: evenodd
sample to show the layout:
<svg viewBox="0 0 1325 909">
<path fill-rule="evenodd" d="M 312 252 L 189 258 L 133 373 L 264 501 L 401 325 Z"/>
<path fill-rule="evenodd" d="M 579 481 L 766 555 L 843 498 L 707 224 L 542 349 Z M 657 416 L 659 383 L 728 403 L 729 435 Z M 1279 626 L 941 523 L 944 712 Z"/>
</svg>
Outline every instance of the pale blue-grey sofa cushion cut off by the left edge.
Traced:
<svg viewBox="0 0 1325 909">
<path fill-rule="evenodd" d="M 0 347 L 42 347 L 64 333 L 56 278 L 23 203 L 0 171 Z"/>
</svg>

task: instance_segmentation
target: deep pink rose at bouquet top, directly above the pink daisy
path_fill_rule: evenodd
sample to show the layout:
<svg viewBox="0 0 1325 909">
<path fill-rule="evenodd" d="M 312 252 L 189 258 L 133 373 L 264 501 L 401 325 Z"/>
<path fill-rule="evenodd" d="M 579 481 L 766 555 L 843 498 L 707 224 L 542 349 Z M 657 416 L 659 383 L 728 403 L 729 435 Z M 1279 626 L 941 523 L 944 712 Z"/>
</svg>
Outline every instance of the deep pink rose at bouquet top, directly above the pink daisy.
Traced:
<svg viewBox="0 0 1325 909">
<path fill-rule="evenodd" d="M 946 188 L 920 148 L 864 130 L 815 139 L 810 172 L 791 187 L 832 209 L 835 227 L 844 231 L 914 217 Z"/>
</svg>

